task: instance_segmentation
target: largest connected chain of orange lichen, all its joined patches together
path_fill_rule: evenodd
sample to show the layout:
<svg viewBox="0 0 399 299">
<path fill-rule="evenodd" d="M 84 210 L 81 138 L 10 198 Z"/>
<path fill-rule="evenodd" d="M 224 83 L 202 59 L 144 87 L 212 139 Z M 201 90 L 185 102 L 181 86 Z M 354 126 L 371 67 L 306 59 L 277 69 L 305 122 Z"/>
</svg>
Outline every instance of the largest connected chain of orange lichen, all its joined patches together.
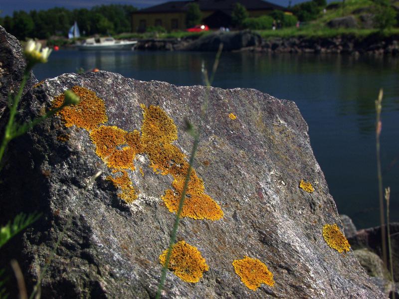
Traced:
<svg viewBox="0 0 399 299">
<path fill-rule="evenodd" d="M 80 96 L 81 103 L 66 107 L 59 114 L 66 127 L 76 125 L 89 131 L 90 139 L 96 146 L 96 154 L 119 175 L 108 176 L 113 184 L 121 189 L 118 196 L 131 203 L 137 198 L 137 192 L 129 178 L 127 170 L 135 170 L 136 154 L 145 153 L 150 160 L 150 167 L 155 173 L 170 174 L 172 187 L 162 196 L 170 212 L 177 212 L 189 164 L 183 152 L 172 143 L 178 139 L 178 130 L 174 121 L 157 106 L 141 105 L 143 124 L 140 132 L 124 131 L 116 126 L 100 126 L 107 122 L 104 101 L 93 91 L 74 86 L 72 90 Z M 54 98 L 53 107 L 59 107 L 64 98 Z M 142 170 L 140 171 L 144 173 Z M 194 219 L 218 220 L 223 217 L 220 206 L 207 194 L 203 181 L 193 169 L 187 190 L 187 197 L 182 217 Z"/>
</svg>

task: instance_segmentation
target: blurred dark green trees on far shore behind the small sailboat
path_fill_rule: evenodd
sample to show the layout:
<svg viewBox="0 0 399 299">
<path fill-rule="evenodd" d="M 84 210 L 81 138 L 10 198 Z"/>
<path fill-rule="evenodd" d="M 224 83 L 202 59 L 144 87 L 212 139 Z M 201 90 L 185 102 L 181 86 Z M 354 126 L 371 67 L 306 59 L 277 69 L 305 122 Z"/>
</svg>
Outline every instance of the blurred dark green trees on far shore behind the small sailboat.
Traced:
<svg viewBox="0 0 399 299">
<path fill-rule="evenodd" d="M 132 5 L 110 4 L 94 6 L 91 9 L 68 10 L 54 7 L 47 10 L 14 11 L 12 16 L 0 19 L 7 32 L 19 40 L 26 38 L 48 39 L 50 36 L 67 36 L 69 28 L 76 21 L 80 34 L 117 34 L 131 30 Z"/>
</svg>

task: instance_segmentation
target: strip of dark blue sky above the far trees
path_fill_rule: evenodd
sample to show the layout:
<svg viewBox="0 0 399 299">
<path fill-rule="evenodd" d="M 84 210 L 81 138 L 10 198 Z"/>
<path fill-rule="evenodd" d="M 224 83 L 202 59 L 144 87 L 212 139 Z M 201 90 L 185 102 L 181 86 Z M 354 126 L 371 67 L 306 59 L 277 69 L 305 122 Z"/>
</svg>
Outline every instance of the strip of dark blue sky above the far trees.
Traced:
<svg viewBox="0 0 399 299">
<path fill-rule="evenodd" d="M 129 4 L 138 8 L 145 8 L 148 6 L 157 5 L 168 2 L 169 0 L 0 0 L 0 16 L 12 15 L 14 10 L 40 10 L 52 7 L 66 7 L 68 9 L 74 8 L 90 8 L 95 5 L 102 4 Z M 269 2 L 279 4 L 281 6 L 288 6 L 289 0 L 268 0 Z M 305 0 L 292 0 L 292 5 Z"/>
</svg>

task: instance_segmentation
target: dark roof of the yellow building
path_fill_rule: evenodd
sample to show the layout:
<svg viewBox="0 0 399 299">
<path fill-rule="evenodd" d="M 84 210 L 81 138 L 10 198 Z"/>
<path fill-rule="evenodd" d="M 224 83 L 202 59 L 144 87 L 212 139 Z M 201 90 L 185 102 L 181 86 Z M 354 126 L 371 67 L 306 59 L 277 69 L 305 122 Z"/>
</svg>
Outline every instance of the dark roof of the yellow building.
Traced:
<svg viewBox="0 0 399 299">
<path fill-rule="evenodd" d="M 263 0 L 192 0 L 192 1 L 170 1 L 159 5 L 138 10 L 133 13 L 151 12 L 176 12 L 186 11 L 190 3 L 200 5 L 200 10 L 232 10 L 236 2 L 244 5 L 247 10 L 279 9 L 287 10 L 285 7 Z"/>
</svg>

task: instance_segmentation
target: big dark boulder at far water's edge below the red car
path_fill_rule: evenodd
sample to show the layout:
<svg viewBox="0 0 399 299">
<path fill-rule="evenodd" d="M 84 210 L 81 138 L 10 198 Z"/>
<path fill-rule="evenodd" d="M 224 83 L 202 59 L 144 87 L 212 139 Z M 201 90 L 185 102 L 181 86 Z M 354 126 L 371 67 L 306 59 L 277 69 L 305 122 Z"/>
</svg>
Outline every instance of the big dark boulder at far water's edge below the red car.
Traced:
<svg viewBox="0 0 399 299">
<path fill-rule="evenodd" d="M 245 47 L 254 47 L 261 44 L 261 37 L 259 34 L 244 30 L 236 32 L 217 31 L 194 40 L 188 44 L 182 43 L 179 47 L 175 46 L 176 50 L 190 50 L 190 51 L 217 51 L 220 43 L 223 43 L 223 51 L 239 50 Z"/>
</svg>

